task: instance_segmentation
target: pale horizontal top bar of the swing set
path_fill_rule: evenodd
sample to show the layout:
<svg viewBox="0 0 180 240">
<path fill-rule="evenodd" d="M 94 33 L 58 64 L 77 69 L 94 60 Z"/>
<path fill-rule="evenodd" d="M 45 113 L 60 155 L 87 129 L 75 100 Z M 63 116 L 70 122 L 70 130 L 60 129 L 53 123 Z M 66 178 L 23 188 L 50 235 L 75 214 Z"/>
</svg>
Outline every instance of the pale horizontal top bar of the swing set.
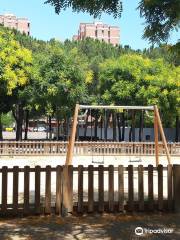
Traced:
<svg viewBox="0 0 180 240">
<path fill-rule="evenodd" d="M 154 106 L 102 106 L 102 105 L 79 105 L 79 109 L 121 109 L 121 110 L 151 110 L 154 111 Z"/>
</svg>

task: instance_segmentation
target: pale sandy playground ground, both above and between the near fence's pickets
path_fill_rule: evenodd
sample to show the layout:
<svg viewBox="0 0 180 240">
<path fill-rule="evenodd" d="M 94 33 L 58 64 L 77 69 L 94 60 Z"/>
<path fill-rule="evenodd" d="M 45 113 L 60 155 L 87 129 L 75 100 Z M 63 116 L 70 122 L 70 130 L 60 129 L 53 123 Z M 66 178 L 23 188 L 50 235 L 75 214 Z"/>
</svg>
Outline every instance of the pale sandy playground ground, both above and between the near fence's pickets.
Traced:
<svg viewBox="0 0 180 240">
<path fill-rule="evenodd" d="M 173 157 L 172 159 L 174 164 L 179 164 L 180 159 L 178 157 Z M 19 166 L 24 167 L 29 165 L 30 167 L 35 167 L 36 165 L 40 165 L 41 167 L 45 167 L 46 165 L 51 165 L 52 167 L 56 167 L 57 165 L 63 165 L 65 163 L 65 157 L 63 156 L 49 156 L 49 157 L 1 157 L 0 158 L 0 168 L 2 166 Z M 165 157 L 160 158 L 160 163 L 164 166 L 167 165 L 167 160 Z M 73 165 L 78 166 L 82 164 L 84 166 L 88 166 L 93 164 L 94 166 L 98 166 L 99 164 L 103 164 L 104 166 L 108 166 L 109 164 L 113 164 L 114 166 L 118 166 L 122 164 L 124 166 L 128 166 L 129 164 L 133 164 L 134 166 L 138 166 L 142 164 L 143 166 L 147 166 L 148 164 L 153 164 L 155 166 L 154 157 L 128 157 L 128 156 L 75 156 L 73 159 Z M 2 181 L 2 174 L 0 174 L 0 203 L 1 203 L 1 181 Z M 23 191 L 24 191 L 24 175 L 23 173 L 19 174 L 19 203 L 23 202 Z M 13 192 L 13 175 L 12 173 L 8 174 L 8 203 L 12 203 L 12 192 Z M 155 199 L 157 198 L 158 193 L 158 178 L 157 178 L 157 171 L 154 171 L 154 196 Z M 167 172 L 163 172 L 163 196 L 164 198 L 167 197 Z M 148 194 L 148 175 L 147 172 L 144 172 L 144 193 L 145 198 Z M 34 202 L 34 187 L 35 187 L 35 176 L 34 173 L 30 174 L 30 202 Z M 138 193 L 138 174 L 134 172 L 134 196 L 135 200 L 137 199 Z M 56 189 L 56 174 L 51 174 L 51 188 L 52 188 L 52 203 L 55 199 L 55 189 Z M 87 172 L 84 172 L 84 181 L 83 181 L 83 188 L 84 188 L 84 201 L 87 201 L 87 193 L 88 193 L 88 176 Z M 76 201 L 77 198 L 77 189 L 78 189 L 78 175 L 77 172 L 73 174 L 73 191 L 74 191 L 74 200 Z M 104 174 L 104 190 L 105 190 L 105 201 L 108 200 L 108 173 L 105 172 Z M 115 172 L 114 174 L 114 190 L 115 190 L 115 201 L 118 199 L 118 174 Z M 125 172 L 124 175 L 124 190 L 125 190 L 125 197 L 127 196 L 128 192 L 128 175 Z M 42 202 L 44 202 L 45 196 L 45 173 L 41 173 L 41 196 Z M 94 172 L 94 199 L 95 201 L 98 200 L 98 172 Z"/>
</svg>

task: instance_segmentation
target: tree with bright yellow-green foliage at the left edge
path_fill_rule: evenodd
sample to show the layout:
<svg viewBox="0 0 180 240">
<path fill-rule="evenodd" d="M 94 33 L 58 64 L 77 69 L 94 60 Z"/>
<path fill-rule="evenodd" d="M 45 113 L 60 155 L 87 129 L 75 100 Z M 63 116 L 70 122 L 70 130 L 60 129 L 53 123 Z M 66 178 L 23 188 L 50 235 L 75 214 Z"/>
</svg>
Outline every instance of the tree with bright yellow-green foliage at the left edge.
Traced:
<svg viewBox="0 0 180 240">
<path fill-rule="evenodd" d="M 18 89 L 28 84 L 31 72 L 31 52 L 14 40 L 11 31 L 0 30 L 0 117 L 7 113 L 16 103 L 18 106 Z M 20 109 L 17 111 L 18 113 Z M 17 129 L 22 116 L 16 118 Z M 19 119 L 19 120 L 18 120 Z M 2 130 L 2 127 L 0 127 Z M 0 133 L 2 138 L 2 133 Z"/>
</svg>

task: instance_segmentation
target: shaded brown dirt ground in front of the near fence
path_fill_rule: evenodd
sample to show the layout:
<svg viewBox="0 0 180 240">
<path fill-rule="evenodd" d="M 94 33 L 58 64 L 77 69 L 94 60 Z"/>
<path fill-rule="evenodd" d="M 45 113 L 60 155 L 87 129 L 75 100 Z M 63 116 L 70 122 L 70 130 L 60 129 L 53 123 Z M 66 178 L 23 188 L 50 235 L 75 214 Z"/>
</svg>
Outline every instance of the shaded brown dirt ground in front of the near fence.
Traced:
<svg viewBox="0 0 180 240">
<path fill-rule="evenodd" d="M 135 229 L 171 233 L 135 234 Z M 143 230 L 145 231 L 145 230 Z M 15 219 L 0 219 L 1 240 L 174 240 L 180 239 L 180 214 L 104 214 L 69 216 L 36 216 Z"/>
</svg>

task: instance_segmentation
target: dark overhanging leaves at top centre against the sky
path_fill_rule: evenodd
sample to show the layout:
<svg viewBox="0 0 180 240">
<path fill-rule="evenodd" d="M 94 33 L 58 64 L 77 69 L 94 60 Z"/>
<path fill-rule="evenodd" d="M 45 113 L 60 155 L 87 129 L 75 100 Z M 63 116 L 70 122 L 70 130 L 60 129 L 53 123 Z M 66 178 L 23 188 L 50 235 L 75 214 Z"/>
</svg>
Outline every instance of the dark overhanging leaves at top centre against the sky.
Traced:
<svg viewBox="0 0 180 240">
<path fill-rule="evenodd" d="M 122 12 L 122 2 L 119 0 L 47 0 L 45 3 L 54 6 L 58 14 L 69 7 L 72 7 L 74 12 L 88 12 L 94 17 L 99 17 L 102 13 L 118 17 Z"/>
</svg>

